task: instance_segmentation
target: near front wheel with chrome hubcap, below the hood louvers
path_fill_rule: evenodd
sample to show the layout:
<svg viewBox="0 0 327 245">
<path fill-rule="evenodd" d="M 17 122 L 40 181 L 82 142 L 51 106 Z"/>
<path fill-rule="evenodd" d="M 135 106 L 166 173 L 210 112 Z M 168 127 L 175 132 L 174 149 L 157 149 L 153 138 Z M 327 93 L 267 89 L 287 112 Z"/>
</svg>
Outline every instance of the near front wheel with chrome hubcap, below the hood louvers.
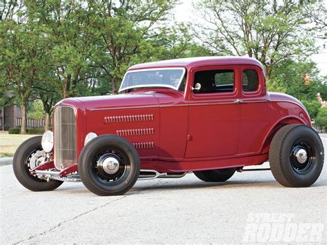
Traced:
<svg viewBox="0 0 327 245">
<path fill-rule="evenodd" d="M 97 195 L 123 195 L 139 177 L 139 155 L 117 135 L 101 135 L 84 146 L 79 156 L 79 176 Z"/>
</svg>

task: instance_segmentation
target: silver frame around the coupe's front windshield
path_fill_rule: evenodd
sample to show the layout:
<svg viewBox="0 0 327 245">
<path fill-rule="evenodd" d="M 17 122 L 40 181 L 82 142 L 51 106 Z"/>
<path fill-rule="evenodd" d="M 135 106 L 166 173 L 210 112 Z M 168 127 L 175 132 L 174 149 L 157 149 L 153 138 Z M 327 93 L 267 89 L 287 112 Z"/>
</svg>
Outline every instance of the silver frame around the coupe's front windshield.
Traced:
<svg viewBox="0 0 327 245">
<path fill-rule="evenodd" d="M 128 86 L 126 88 L 121 88 L 123 86 L 123 81 L 125 81 L 126 75 L 132 72 L 143 72 L 148 70 L 183 70 L 183 73 L 181 74 L 181 78 L 179 79 L 177 87 L 171 86 L 168 84 L 143 84 L 143 85 L 134 85 L 134 86 Z M 179 90 L 179 87 L 181 86 L 181 82 L 184 79 L 184 76 L 186 74 L 186 68 L 184 67 L 163 67 L 163 68 L 146 68 L 146 69 L 137 69 L 137 70 L 128 70 L 125 75 L 123 76 L 123 81 L 121 81 L 121 85 L 119 88 L 119 92 L 122 92 L 124 90 L 132 89 L 132 88 L 150 88 L 150 87 L 157 87 L 157 88 L 172 88 L 173 90 Z"/>
</svg>

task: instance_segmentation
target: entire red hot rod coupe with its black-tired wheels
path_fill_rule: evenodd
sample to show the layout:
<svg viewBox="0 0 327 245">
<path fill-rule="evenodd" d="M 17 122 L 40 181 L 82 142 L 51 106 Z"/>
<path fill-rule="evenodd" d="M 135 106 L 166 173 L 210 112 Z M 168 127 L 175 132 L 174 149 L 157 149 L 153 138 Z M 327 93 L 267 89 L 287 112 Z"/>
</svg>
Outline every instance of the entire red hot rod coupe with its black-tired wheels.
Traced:
<svg viewBox="0 0 327 245">
<path fill-rule="evenodd" d="M 255 59 L 200 57 L 132 66 L 119 95 L 63 99 L 54 133 L 14 154 L 19 182 L 34 191 L 81 181 L 97 195 L 122 195 L 137 179 L 224 182 L 270 161 L 277 182 L 310 186 L 324 148 L 303 104 L 267 92 Z"/>
</svg>

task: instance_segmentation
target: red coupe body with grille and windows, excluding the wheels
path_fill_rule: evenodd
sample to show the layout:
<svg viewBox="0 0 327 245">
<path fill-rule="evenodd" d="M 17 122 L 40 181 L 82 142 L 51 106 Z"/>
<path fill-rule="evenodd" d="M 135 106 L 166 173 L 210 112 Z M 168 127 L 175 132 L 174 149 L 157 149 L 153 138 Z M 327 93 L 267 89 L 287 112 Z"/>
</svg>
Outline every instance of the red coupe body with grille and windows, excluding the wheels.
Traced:
<svg viewBox="0 0 327 245">
<path fill-rule="evenodd" d="M 138 84 L 142 78 L 149 81 Z M 164 79 L 167 84 L 157 83 Z M 242 170 L 267 161 L 273 137 L 288 125 L 311 127 L 308 112 L 294 97 L 267 92 L 264 68 L 255 59 L 143 63 L 128 69 L 119 95 L 68 98 L 55 106 L 48 168 L 59 180 L 78 176 L 86 137 L 117 135 L 137 150 L 141 173 L 155 177 Z"/>
</svg>

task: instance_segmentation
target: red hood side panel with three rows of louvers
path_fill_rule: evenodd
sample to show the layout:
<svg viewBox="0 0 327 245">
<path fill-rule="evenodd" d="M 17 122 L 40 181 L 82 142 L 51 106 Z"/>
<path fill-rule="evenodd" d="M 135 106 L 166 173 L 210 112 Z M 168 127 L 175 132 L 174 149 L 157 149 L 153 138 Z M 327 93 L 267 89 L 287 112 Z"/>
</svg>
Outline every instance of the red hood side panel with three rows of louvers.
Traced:
<svg viewBox="0 0 327 245">
<path fill-rule="evenodd" d="M 140 158 L 157 157 L 159 108 L 94 110 L 86 112 L 86 134 L 119 135 L 132 143 Z"/>
</svg>

